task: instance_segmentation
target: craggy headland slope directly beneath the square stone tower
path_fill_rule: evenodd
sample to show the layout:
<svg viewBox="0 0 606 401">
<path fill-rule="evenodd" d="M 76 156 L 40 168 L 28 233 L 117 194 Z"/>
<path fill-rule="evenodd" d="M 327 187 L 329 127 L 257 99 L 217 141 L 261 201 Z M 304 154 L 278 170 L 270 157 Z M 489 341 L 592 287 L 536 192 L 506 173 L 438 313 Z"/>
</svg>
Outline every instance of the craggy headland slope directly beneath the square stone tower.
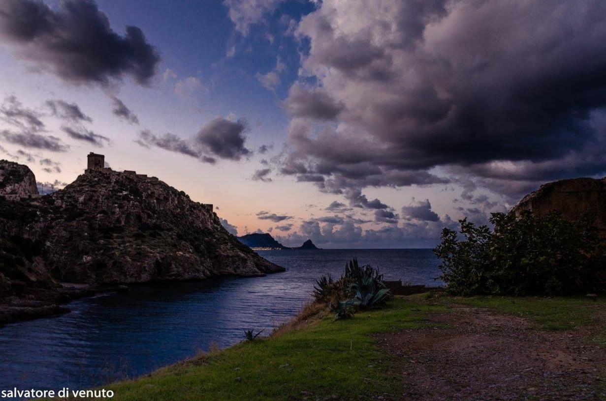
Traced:
<svg viewBox="0 0 606 401">
<path fill-rule="evenodd" d="M 210 209 L 154 178 L 80 175 L 36 201 L 4 200 L 0 228 L 41 244 L 64 282 L 112 283 L 258 276 L 282 269 L 239 243 Z"/>
</svg>

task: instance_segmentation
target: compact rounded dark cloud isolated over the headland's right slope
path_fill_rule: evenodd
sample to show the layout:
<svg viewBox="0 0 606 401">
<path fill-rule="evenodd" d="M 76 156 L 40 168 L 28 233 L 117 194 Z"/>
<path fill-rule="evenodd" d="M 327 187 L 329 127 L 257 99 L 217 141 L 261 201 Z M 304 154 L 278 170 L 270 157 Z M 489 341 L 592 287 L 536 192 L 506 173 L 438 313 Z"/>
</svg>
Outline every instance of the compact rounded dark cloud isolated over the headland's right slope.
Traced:
<svg viewBox="0 0 606 401">
<path fill-rule="evenodd" d="M 244 132 L 247 129 L 245 120 L 230 121 L 215 117 L 202 126 L 194 141 L 217 157 L 240 160 L 251 153 L 244 146 Z"/>
</svg>

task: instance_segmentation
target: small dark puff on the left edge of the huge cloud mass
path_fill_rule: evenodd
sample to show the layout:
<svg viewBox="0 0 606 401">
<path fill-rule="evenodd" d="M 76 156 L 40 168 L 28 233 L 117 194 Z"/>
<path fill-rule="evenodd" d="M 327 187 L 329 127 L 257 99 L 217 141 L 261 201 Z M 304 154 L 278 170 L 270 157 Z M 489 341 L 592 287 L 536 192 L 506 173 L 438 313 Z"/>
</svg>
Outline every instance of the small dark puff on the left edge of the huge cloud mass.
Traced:
<svg viewBox="0 0 606 401">
<path fill-rule="evenodd" d="M 304 88 L 298 83 L 290 88 L 284 106 L 291 116 L 314 120 L 335 120 L 343 109 L 320 88 Z"/>
</svg>

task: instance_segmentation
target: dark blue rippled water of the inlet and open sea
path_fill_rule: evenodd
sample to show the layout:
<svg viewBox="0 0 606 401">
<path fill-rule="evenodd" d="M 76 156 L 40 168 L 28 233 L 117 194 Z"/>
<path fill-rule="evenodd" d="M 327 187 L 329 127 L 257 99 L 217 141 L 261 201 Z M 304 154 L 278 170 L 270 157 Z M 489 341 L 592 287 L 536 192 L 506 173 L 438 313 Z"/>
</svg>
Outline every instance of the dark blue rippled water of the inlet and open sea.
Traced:
<svg viewBox="0 0 606 401">
<path fill-rule="evenodd" d="M 274 250 L 259 254 L 288 269 L 261 278 L 135 285 L 130 292 L 72 302 L 72 313 L 0 328 L 0 390 L 88 388 L 139 376 L 271 331 L 310 299 L 315 279 L 341 276 L 356 256 L 385 279 L 440 284 L 430 250 Z"/>
</svg>

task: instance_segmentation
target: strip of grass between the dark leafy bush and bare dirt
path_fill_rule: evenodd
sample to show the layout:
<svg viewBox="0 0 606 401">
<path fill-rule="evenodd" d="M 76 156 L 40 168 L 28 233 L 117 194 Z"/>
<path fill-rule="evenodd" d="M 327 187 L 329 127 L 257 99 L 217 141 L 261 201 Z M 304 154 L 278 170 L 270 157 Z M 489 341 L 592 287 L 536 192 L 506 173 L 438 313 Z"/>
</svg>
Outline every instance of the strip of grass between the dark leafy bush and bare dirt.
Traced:
<svg viewBox="0 0 606 401">
<path fill-rule="evenodd" d="M 606 299 L 592 300 L 587 297 L 520 297 L 474 296 L 470 298 L 448 297 L 447 302 L 489 308 L 498 313 L 521 316 L 533 321 L 542 330 L 559 331 L 593 325 L 598 321 L 595 310 L 606 306 Z"/>
</svg>

